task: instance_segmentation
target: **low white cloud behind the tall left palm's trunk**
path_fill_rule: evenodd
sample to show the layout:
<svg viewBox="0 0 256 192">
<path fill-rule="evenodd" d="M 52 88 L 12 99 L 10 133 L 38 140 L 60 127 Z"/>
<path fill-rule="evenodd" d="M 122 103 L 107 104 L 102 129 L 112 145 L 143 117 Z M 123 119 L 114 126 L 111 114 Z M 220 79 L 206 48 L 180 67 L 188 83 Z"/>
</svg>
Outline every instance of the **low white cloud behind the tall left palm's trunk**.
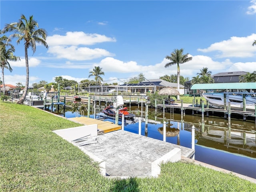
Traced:
<svg viewBox="0 0 256 192">
<path fill-rule="evenodd" d="M 38 80 L 38 77 L 35 76 L 29 76 L 29 85 L 32 85 L 36 80 Z M 4 75 L 4 83 L 5 84 L 12 84 L 16 85 L 16 83 L 21 82 L 23 86 L 26 84 L 26 75 Z"/>
</svg>

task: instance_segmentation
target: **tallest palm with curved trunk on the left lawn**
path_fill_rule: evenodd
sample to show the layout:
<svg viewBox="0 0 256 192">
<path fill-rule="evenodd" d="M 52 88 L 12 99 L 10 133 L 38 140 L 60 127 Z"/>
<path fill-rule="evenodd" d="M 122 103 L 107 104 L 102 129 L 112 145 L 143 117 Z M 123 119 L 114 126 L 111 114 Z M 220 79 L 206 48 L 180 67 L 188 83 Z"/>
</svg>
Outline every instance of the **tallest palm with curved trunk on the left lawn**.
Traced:
<svg viewBox="0 0 256 192">
<path fill-rule="evenodd" d="M 10 35 L 10 39 L 18 38 L 17 44 L 24 40 L 25 46 L 25 60 L 26 60 L 26 84 L 22 97 L 17 102 L 18 104 L 23 104 L 26 94 L 28 92 L 28 82 L 29 82 L 29 68 L 28 68 L 28 48 L 32 48 L 33 54 L 36 52 L 36 43 L 42 44 L 46 48 L 48 45 L 46 43 L 46 30 L 38 28 L 38 23 L 30 16 L 29 19 L 22 14 L 18 22 L 6 24 L 3 29 L 4 32 L 14 32 Z"/>
</svg>

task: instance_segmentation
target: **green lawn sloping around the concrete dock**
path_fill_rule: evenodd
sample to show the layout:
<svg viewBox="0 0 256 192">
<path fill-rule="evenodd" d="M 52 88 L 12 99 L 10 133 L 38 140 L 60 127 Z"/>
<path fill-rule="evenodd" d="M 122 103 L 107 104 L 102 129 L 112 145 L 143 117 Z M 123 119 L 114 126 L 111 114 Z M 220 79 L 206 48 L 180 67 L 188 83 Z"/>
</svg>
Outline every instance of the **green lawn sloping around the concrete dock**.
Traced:
<svg viewBox="0 0 256 192">
<path fill-rule="evenodd" d="M 232 174 L 185 162 L 158 178 L 107 179 L 98 164 L 52 130 L 79 126 L 36 108 L 0 102 L 0 191 L 256 191 Z"/>
</svg>

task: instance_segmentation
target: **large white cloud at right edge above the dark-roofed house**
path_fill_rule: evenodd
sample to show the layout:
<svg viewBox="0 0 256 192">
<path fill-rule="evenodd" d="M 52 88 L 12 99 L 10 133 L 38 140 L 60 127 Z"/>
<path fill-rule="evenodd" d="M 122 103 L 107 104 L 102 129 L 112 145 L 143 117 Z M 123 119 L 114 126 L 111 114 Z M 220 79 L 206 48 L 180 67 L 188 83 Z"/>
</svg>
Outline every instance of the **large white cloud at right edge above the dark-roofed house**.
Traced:
<svg viewBox="0 0 256 192">
<path fill-rule="evenodd" d="M 198 49 L 202 52 L 218 52 L 216 57 L 253 57 L 255 56 L 255 47 L 252 42 L 256 39 L 256 34 L 251 34 L 247 37 L 231 37 L 229 40 L 211 44 L 210 47 Z"/>
</svg>

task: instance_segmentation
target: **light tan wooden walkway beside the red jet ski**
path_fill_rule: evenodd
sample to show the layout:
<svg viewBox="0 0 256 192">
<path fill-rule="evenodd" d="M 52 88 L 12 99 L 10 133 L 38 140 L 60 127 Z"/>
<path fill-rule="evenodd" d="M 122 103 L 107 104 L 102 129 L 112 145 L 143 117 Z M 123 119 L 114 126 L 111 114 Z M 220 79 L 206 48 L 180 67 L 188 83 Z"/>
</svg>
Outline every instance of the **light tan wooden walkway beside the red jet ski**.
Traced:
<svg viewBox="0 0 256 192">
<path fill-rule="evenodd" d="M 88 117 L 73 117 L 73 118 L 68 118 L 68 119 L 70 119 L 74 122 L 82 123 L 84 125 L 97 124 L 98 130 L 102 130 L 104 133 L 122 129 L 122 127 L 120 125 L 113 124 L 112 122 L 92 119 L 92 118 L 88 118 Z"/>
</svg>

